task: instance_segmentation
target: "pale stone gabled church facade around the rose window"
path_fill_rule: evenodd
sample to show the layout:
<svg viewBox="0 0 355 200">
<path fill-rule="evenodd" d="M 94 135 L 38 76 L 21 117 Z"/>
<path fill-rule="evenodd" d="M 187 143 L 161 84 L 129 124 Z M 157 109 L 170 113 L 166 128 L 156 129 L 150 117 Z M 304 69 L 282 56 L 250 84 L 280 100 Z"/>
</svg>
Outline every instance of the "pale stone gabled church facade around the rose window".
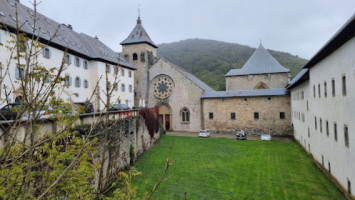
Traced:
<svg viewBox="0 0 355 200">
<path fill-rule="evenodd" d="M 152 81 L 159 75 L 166 75 L 174 82 L 172 93 L 166 99 L 159 99 L 154 95 Z M 161 115 L 170 115 L 170 130 L 199 131 L 201 129 L 201 95 L 203 89 L 198 87 L 189 78 L 164 59 L 160 59 L 149 70 L 149 99 L 148 107 L 163 106 Z M 161 107 L 162 108 L 162 107 Z M 168 110 L 166 110 L 166 108 Z M 189 122 L 182 122 L 181 110 L 187 108 L 190 112 Z M 169 113 L 170 112 L 170 113 Z M 163 122 L 164 120 L 162 120 Z"/>
</svg>

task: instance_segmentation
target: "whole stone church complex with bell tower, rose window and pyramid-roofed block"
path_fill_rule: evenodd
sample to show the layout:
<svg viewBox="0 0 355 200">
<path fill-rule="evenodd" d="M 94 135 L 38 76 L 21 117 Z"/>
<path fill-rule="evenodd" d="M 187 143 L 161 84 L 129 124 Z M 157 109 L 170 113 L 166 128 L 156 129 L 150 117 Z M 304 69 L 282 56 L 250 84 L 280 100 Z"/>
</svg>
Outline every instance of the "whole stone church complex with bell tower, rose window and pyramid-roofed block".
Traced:
<svg viewBox="0 0 355 200">
<path fill-rule="evenodd" d="M 215 91 L 183 68 L 158 60 L 158 47 L 140 17 L 121 45 L 124 57 L 137 67 L 135 106 L 159 106 L 165 130 L 291 134 L 285 89 L 290 71 L 261 45 L 242 69 L 226 74 L 226 91 Z"/>
</svg>

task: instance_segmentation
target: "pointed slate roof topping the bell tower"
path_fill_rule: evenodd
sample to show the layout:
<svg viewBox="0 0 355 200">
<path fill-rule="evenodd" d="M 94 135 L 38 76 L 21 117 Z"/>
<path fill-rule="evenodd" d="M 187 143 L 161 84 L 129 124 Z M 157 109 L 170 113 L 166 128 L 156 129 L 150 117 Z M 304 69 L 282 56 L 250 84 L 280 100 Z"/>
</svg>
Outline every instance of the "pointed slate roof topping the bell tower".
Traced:
<svg viewBox="0 0 355 200">
<path fill-rule="evenodd" d="M 140 43 L 147 43 L 155 48 L 158 48 L 158 46 L 153 42 L 153 40 L 150 39 L 147 31 L 145 31 L 144 27 L 142 26 L 142 20 L 140 16 L 138 16 L 137 25 L 134 27 L 134 29 L 128 35 L 128 37 L 121 42 L 121 45 L 140 44 Z"/>
</svg>

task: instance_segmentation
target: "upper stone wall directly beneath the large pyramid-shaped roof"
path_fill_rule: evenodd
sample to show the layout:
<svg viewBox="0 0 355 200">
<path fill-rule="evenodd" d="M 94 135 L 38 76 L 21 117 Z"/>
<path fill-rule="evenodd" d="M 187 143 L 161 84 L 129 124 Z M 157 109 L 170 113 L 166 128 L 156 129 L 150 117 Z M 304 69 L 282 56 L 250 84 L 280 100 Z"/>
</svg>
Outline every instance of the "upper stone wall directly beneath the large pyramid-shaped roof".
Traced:
<svg viewBox="0 0 355 200">
<path fill-rule="evenodd" d="M 270 89 L 284 88 L 289 81 L 289 73 L 228 76 L 226 90 L 253 90 L 260 82 L 265 83 Z"/>
</svg>

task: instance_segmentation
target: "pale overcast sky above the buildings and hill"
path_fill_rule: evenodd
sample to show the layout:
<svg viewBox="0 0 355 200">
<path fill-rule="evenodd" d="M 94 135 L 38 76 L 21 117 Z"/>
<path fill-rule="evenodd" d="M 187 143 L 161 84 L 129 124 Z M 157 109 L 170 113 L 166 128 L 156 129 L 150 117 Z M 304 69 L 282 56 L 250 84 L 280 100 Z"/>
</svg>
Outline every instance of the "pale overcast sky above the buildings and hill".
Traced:
<svg viewBox="0 0 355 200">
<path fill-rule="evenodd" d="M 354 14 L 355 0 L 41 0 L 37 9 L 121 51 L 138 7 L 156 44 L 201 38 L 257 47 L 262 40 L 309 59 Z"/>
</svg>

